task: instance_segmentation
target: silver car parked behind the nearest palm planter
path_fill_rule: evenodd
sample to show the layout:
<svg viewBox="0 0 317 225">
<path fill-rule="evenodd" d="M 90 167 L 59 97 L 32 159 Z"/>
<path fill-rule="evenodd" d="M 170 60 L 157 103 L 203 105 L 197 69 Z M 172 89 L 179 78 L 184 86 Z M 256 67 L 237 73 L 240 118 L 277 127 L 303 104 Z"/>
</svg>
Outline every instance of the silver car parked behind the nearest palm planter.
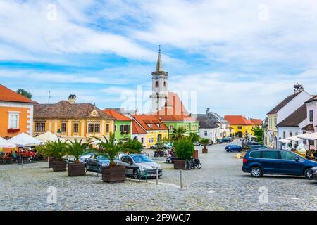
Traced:
<svg viewBox="0 0 317 225">
<path fill-rule="evenodd" d="M 155 177 L 156 167 L 158 167 L 159 177 L 163 175 L 161 165 L 153 162 L 147 155 L 126 154 L 117 161 L 117 165 L 124 166 L 125 174 L 127 176 L 133 176 L 135 179 L 138 179 L 140 175 L 143 176 L 145 172 L 147 172 L 148 177 Z"/>
</svg>

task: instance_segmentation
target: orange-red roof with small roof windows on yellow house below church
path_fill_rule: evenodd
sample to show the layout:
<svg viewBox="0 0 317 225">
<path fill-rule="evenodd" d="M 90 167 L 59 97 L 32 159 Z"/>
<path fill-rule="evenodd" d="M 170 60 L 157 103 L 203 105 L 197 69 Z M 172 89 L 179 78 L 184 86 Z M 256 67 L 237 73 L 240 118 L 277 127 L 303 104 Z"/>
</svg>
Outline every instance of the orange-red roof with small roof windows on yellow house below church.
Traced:
<svg viewBox="0 0 317 225">
<path fill-rule="evenodd" d="M 154 115 L 132 115 L 132 117 L 146 131 L 168 129 L 168 127 L 166 127 L 166 125 Z M 150 124 L 152 127 L 149 127 Z"/>
</svg>

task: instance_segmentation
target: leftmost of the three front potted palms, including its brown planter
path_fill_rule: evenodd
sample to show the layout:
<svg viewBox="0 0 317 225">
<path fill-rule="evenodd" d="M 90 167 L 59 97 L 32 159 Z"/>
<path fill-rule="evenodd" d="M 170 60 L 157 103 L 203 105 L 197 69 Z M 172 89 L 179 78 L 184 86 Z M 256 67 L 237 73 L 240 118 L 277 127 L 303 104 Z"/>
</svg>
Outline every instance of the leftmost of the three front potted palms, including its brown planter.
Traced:
<svg viewBox="0 0 317 225">
<path fill-rule="evenodd" d="M 62 159 L 63 155 L 66 155 L 66 143 L 61 140 L 47 141 L 45 144 L 47 155 L 53 160 L 51 166 L 54 172 L 66 171 L 67 162 Z"/>
</svg>

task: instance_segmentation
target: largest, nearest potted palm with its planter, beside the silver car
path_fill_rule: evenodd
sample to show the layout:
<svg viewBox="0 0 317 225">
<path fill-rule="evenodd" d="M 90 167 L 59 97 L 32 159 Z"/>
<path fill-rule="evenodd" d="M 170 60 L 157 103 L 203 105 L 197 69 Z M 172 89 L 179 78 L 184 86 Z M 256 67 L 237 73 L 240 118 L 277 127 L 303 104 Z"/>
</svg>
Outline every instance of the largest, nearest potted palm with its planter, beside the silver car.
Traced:
<svg viewBox="0 0 317 225">
<path fill-rule="evenodd" d="M 102 167 L 102 180 L 108 183 L 124 182 L 125 167 L 117 166 L 115 162 L 118 153 L 123 151 L 122 143 L 116 143 L 114 134 L 110 134 L 109 139 L 106 136 L 104 140 L 98 137 L 95 139 L 99 140 L 99 149 L 94 151 L 96 155 L 103 155 L 110 161 L 108 166 Z"/>
</svg>

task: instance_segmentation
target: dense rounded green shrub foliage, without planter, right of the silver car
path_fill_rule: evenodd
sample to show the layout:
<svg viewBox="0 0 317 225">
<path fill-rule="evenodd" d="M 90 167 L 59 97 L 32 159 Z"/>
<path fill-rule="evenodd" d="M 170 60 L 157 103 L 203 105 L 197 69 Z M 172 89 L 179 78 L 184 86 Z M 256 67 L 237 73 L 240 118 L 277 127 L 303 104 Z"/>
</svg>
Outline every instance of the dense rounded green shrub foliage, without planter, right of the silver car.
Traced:
<svg viewBox="0 0 317 225">
<path fill-rule="evenodd" d="M 180 139 L 174 142 L 175 153 L 179 160 L 189 160 L 194 154 L 194 144 L 190 139 Z"/>
</svg>

